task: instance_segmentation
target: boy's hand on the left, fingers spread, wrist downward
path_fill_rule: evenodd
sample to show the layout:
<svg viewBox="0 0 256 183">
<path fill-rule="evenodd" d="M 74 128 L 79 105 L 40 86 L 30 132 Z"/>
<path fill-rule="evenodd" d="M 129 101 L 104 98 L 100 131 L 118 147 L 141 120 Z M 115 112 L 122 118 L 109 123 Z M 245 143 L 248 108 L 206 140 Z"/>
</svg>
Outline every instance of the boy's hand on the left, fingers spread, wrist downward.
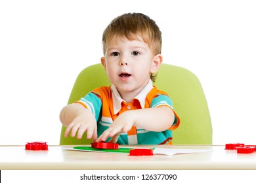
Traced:
<svg viewBox="0 0 256 183">
<path fill-rule="evenodd" d="M 87 139 L 93 139 L 93 142 L 97 139 L 97 126 L 95 120 L 86 120 L 87 116 L 85 114 L 79 114 L 74 118 L 73 122 L 68 125 L 64 136 L 68 137 L 70 134 L 71 137 L 75 137 L 77 133 L 77 139 L 83 137 L 83 133 L 87 133 Z"/>
</svg>

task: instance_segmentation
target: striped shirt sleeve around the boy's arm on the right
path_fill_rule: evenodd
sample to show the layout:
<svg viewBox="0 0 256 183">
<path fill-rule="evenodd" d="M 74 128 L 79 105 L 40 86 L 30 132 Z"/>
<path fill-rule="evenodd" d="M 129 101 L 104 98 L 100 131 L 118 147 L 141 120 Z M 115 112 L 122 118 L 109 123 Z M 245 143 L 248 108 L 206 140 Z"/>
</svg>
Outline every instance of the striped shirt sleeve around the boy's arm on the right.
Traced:
<svg viewBox="0 0 256 183">
<path fill-rule="evenodd" d="M 177 129 L 177 127 L 179 127 L 179 124 L 180 124 L 180 118 L 175 112 L 173 108 L 173 101 L 171 101 L 171 98 L 168 95 L 163 95 L 163 94 L 156 95 L 150 105 L 150 107 L 152 108 L 161 107 L 161 106 L 167 106 L 171 108 L 171 110 L 173 110 L 173 113 L 175 114 L 175 120 L 173 122 L 173 125 L 171 125 L 169 129 L 171 130 Z"/>
</svg>

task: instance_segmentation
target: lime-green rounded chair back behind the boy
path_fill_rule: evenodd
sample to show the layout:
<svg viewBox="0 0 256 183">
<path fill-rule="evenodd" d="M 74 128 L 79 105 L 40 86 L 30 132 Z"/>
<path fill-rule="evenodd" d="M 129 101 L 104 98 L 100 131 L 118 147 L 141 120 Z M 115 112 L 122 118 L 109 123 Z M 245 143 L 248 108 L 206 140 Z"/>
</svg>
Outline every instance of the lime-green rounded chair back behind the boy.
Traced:
<svg viewBox="0 0 256 183">
<path fill-rule="evenodd" d="M 100 86 L 109 86 L 110 81 L 100 63 L 81 71 L 75 80 L 68 104 L 84 97 Z M 173 131 L 173 144 L 212 144 L 212 126 L 207 101 L 200 81 L 182 67 L 163 63 L 154 85 L 169 94 L 175 111 L 181 118 L 180 126 Z M 83 135 L 81 140 L 64 137 L 66 127 L 62 126 L 60 145 L 90 144 Z"/>
</svg>

